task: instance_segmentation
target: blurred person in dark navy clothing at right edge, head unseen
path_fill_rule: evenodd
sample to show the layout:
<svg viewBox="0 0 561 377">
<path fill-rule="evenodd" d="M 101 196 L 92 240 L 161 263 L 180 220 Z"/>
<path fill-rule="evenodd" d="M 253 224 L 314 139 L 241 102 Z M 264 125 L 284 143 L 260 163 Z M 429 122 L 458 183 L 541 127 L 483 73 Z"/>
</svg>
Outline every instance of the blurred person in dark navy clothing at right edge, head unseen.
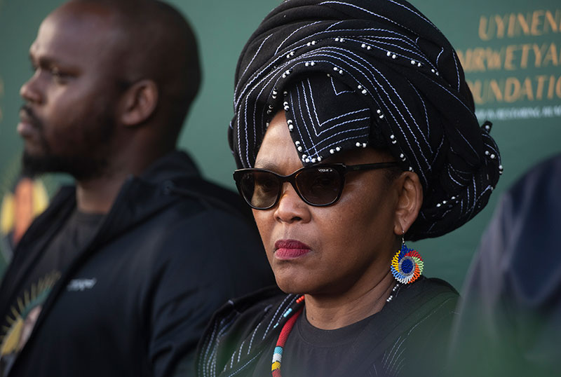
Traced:
<svg viewBox="0 0 561 377">
<path fill-rule="evenodd" d="M 450 376 L 559 375 L 560 187 L 557 153 L 501 196 L 466 276 Z"/>
</svg>

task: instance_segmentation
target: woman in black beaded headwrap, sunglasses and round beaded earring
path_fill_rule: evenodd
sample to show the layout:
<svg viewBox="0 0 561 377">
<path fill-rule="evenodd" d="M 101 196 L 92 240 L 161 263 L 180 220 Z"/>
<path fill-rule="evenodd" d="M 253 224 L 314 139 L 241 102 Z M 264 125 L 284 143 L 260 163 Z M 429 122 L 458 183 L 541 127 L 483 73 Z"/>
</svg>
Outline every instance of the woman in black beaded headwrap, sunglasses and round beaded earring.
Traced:
<svg viewBox="0 0 561 377">
<path fill-rule="evenodd" d="M 405 239 L 471 219 L 502 169 L 450 43 L 405 1 L 285 1 L 234 106 L 234 178 L 285 293 L 224 306 L 199 376 L 433 373 L 457 292 Z"/>
</svg>

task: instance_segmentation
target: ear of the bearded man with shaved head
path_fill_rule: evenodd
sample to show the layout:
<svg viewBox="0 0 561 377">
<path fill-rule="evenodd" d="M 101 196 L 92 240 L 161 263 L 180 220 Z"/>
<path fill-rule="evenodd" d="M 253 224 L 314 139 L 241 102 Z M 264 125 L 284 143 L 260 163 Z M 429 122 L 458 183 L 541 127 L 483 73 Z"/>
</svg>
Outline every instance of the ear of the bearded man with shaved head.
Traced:
<svg viewBox="0 0 561 377">
<path fill-rule="evenodd" d="M 147 120 L 158 104 L 158 86 L 154 81 L 137 81 L 123 93 L 119 119 L 123 125 L 134 127 Z"/>
</svg>

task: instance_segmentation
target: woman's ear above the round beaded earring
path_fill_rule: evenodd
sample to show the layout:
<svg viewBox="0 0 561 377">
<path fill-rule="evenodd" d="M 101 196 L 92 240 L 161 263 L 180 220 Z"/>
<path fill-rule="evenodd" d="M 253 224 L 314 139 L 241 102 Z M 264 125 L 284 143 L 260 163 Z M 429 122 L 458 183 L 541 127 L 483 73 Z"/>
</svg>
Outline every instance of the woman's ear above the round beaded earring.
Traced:
<svg viewBox="0 0 561 377">
<path fill-rule="evenodd" d="M 396 235 L 407 233 L 410 226 L 417 219 L 421 205 L 423 205 L 423 186 L 419 176 L 414 172 L 403 172 L 396 179 L 399 197 L 396 207 L 396 224 L 393 232 Z"/>
</svg>

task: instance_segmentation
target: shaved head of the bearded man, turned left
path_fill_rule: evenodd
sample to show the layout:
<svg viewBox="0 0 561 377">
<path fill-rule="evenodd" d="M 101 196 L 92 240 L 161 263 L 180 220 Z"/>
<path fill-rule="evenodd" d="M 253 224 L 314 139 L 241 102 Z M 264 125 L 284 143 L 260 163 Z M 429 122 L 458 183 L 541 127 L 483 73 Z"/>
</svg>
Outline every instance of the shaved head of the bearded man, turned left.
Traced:
<svg viewBox="0 0 561 377">
<path fill-rule="evenodd" d="M 29 174 L 140 172 L 175 149 L 201 81 L 187 20 L 156 0 L 72 0 L 29 48 L 18 125 Z"/>
</svg>

